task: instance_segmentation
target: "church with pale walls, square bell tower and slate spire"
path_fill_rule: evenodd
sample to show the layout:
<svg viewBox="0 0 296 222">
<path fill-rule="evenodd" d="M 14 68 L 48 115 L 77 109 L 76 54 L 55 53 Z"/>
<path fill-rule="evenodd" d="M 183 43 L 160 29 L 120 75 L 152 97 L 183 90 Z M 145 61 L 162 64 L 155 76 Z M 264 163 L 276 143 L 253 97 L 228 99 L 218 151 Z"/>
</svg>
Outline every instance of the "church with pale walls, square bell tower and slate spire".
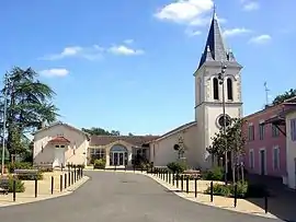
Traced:
<svg viewBox="0 0 296 222">
<path fill-rule="evenodd" d="M 150 143 L 150 160 L 156 166 L 183 157 L 191 167 L 208 168 L 206 151 L 212 138 L 229 118 L 242 117 L 241 69 L 234 52 L 225 45 L 216 12 L 194 72 L 195 119 L 173 129 Z"/>
</svg>

